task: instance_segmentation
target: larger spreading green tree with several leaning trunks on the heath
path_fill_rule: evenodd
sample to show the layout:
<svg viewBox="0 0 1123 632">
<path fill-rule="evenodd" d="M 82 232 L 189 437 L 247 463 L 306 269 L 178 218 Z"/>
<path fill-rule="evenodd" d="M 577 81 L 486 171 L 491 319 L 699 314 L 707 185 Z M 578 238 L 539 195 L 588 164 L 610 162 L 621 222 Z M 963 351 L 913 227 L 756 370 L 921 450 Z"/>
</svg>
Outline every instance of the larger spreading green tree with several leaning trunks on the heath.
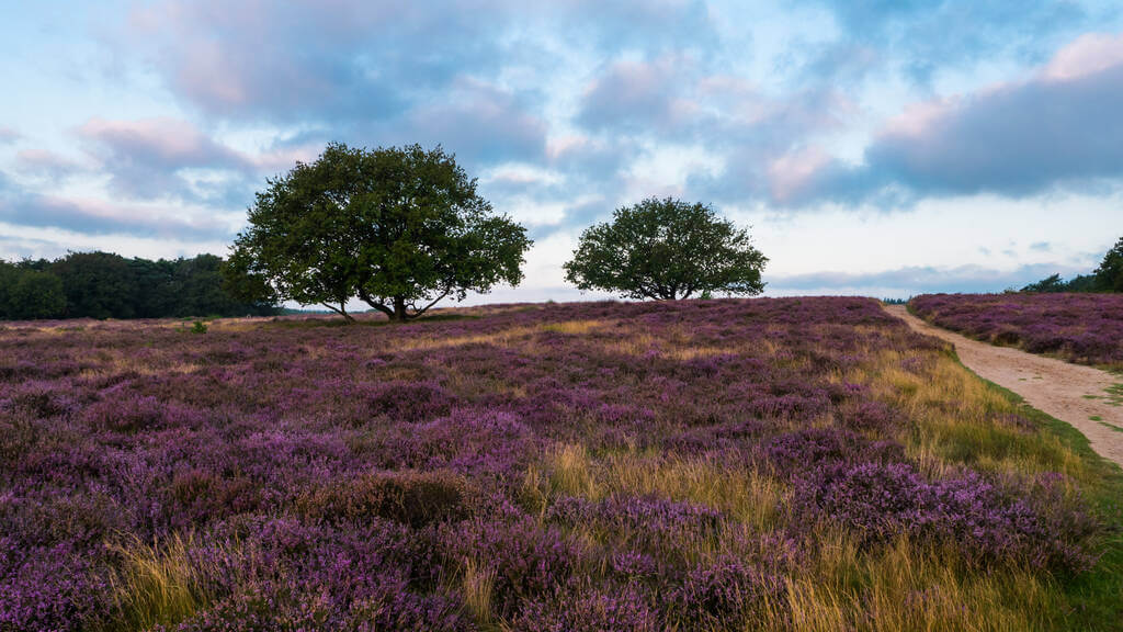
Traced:
<svg viewBox="0 0 1123 632">
<path fill-rule="evenodd" d="M 444 150 L 332 143 L 268 181 L 227 267 L 229 287 L 320 304 L 359 298 L 393 320 L 522 280 L 526 229 L 496 215 Z"/>
</svg>

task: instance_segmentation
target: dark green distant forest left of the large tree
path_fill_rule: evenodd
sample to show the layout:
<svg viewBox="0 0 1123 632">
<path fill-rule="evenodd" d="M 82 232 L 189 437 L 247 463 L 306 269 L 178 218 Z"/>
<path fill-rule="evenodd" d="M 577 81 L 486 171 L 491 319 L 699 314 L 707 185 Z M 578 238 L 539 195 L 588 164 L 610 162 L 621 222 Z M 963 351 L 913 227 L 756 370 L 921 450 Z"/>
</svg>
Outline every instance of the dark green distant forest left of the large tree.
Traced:
<svg viewBox="0 0 1123 632">
<path fill-rule="evenodd" d="M 234 298 L 222 258 L 149 261 L 106 252 L 0 261 L 0 318 L 166 318 L 277 313 Z"/>
</svg>

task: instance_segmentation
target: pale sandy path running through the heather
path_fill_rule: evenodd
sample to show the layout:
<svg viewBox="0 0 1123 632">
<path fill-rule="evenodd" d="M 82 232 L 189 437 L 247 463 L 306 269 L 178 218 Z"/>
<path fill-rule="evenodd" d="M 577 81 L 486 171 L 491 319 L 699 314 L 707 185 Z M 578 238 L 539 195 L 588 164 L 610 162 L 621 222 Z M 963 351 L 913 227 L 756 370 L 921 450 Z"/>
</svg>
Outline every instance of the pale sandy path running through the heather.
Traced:
<svg viewBox="0 0 1123 632">
<path fill-rule="evenodd" d="M 925 323 L 903 305 L 887 305 L 885 309 L 913 329 L 955 344 L 959 360 L 968 369 L 1021 395 L 1038 410 L 1070 424 L 1088 437 L 1098 454 L 1123 466 L 1123 432 L 1102 423 L 1123 428 L 1123 406 L 1113 406 L 1104 391 L 1123 382 L 1123 378 L 1092 367 L 971 340 Z"/>
</svg>

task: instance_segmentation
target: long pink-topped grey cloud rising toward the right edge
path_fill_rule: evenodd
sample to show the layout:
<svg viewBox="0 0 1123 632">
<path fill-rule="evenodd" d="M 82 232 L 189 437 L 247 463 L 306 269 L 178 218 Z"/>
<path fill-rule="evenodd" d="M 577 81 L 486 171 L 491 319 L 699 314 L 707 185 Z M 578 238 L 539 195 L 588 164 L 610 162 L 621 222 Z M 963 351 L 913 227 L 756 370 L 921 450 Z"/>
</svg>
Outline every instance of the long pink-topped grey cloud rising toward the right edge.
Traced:
<svg viewBox="0 0 1123 632">
<path fill-rule="evenodd" d="M 1086 187 L 1123 175 L 1120 111 L 1123 37 L 1081 37 L 1021 82 L 915 103 L 882 128 L 860 165 L 791 156 L 798 178 L 780 178 L 787 186 L 774 200 L 1025 197 Z"/>
</svg>

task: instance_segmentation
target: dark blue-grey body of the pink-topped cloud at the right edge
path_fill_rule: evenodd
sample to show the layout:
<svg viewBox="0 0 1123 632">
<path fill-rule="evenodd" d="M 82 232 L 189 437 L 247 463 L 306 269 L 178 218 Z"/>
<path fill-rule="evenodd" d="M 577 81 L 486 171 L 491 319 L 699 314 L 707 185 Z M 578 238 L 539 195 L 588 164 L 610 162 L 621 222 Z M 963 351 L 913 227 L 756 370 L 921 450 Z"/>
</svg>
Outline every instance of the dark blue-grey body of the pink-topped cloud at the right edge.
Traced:
<svg viewBox="0 0 1123 632">
<path fill-rule="evenodd" d="M 1024 196 L 1123 173 L 1123 65 L 1067 81 L 1001 87 L 906 114 L 867 150 L 913 189 Z"/>
</svg>

